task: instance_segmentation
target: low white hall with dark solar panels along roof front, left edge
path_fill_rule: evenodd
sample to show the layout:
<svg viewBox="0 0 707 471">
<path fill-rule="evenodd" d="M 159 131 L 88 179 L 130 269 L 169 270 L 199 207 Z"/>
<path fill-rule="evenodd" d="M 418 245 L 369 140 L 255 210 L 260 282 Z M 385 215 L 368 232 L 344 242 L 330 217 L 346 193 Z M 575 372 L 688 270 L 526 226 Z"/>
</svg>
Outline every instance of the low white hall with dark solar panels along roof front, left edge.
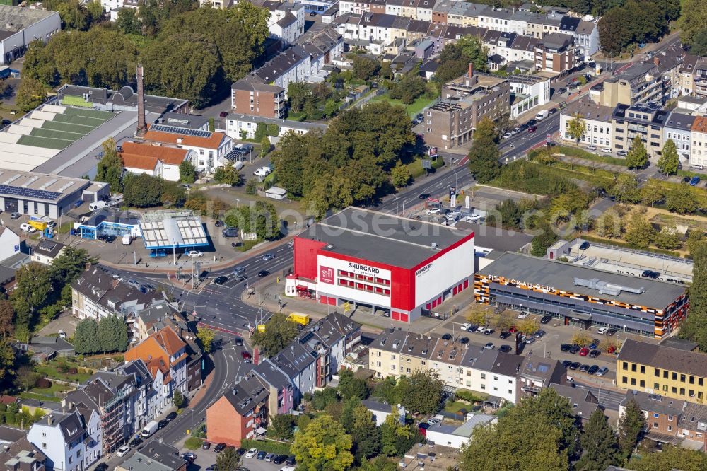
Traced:
<svg viewBox="0 0 707 471">
<path fill-rule="evenodd" d="M 94 202 L 109 194 L 107 183 L 19 170 L 0 170 L 0 209 L 58 219 L 76 201 Z"/>
</svg>

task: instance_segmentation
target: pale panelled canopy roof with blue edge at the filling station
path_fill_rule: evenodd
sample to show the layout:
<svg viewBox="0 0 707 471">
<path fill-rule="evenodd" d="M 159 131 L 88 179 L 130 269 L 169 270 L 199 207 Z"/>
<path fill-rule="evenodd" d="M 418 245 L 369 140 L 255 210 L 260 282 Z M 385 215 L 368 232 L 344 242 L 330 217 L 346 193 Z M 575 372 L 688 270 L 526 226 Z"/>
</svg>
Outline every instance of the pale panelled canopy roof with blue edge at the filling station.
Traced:
<svg viewBox="0 0 707 471">
<path fill-rule="evenodd" d="M 146 248 L 209 245 L 204 224 L 192 211 L 153 211 L 140 221 Z"/>
</svg>

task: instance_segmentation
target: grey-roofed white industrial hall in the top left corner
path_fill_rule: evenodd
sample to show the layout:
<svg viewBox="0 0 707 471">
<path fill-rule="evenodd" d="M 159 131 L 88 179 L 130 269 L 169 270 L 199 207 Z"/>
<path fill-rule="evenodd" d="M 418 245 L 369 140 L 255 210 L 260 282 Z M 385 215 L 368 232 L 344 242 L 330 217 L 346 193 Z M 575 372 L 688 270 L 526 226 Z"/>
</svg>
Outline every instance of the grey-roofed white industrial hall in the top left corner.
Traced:
<svg viewBox="0 0 707 471">
<path fill-rule="evenodd" d="M 59 13 L 45 9 L 0 5 L 0 65 L 25 53 L 30 42 L 47 42 L 62 29 Z"/>
</svg>

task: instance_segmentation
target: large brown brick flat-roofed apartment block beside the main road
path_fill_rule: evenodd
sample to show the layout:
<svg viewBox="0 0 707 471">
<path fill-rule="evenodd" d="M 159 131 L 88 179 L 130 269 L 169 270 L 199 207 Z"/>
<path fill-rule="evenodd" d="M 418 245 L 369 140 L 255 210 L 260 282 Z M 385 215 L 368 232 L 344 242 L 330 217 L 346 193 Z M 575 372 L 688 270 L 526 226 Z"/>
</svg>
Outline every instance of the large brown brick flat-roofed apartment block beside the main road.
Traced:
<svg viewBox="0 0 707 471">
<path fill-rule="evenodd" d="M 508 79 L 469 72 L 445 83 L 442 100 L 425 111 L 424 139 L 429 146 L 451 149 L 474 137 L 477 123 L 484 117 L 496 120 L 510 111 Z"/>
</svg>

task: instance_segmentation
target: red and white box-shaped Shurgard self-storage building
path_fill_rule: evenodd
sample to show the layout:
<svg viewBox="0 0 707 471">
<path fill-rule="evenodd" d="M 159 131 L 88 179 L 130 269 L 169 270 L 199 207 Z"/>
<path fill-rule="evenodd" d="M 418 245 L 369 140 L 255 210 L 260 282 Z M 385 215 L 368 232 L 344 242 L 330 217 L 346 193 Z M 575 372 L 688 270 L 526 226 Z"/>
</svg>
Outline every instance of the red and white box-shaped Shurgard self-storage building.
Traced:
<svg viewBox="0 0 707 471">
<path fill-rule="evenodd" d="M 349 207 L 295 237 L 286 294 L 412 322 L 469 288 L 474 232 Z"/>
</svg>

